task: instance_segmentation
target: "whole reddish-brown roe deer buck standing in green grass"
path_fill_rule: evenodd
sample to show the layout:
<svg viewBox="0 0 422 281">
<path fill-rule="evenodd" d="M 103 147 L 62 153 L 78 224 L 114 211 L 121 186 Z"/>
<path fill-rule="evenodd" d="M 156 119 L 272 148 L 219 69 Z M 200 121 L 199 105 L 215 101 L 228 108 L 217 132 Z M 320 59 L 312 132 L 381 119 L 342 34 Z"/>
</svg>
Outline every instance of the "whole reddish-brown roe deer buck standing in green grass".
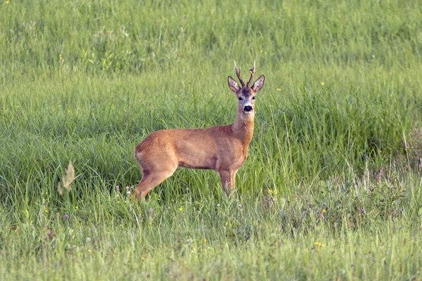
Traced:
<svg viewBox="0 0 422 281">
<path fill-rule="evenodd" d="M 238 100 L 233 124 L 204 129 L 164 129 L 150 133 L 136 146 L 134 157 L 142 178 L 136 186 L 138 200 L 170 178 L 178 167 L 212 169 L 221 178 L 222 188 L 229 197 L 236 189 L 236 173 L 248 155 L 255 118 L 255 95 L 264 86 L 264 75 L 250 84 L 255 74 L 255 61 L 248 83 L 241 78 L 241 70 L 234 61 L 234 71 L 241 86 L 232 77 L 227 78 L 229 89 Z"/>
</svg>

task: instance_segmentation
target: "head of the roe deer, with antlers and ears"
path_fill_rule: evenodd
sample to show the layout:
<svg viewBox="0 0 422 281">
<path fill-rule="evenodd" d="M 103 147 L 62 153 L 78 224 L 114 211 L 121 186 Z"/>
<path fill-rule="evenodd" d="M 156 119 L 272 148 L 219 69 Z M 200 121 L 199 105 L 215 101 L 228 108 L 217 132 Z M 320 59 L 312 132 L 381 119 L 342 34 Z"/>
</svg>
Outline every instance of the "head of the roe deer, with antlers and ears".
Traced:
<svg viewBox="0 0 422 281">
<path fill-rule="evenodd" d="M 234 71 L 236 76 L 241 82 L 241 87 L 238 85 L 235 79 L 229 76 L 228 83 L 231 91 L 236 93 L 238 98 L 238 113 L 242 115 L 253 115 L 255 110 L 255 95 L 257 91 L 260 91 L 264 86 L 264 75 L 261 75 L 253 84 L 250 85 L 253 75 L 255 74 L 255 60 L 253 62 L 253 68 L 249 70 L 250 78 L 247 84 L 245 84 L 241 78 L 241 70 L 236 66 L 236 61 L 234 62 Z"/>
</svg>

